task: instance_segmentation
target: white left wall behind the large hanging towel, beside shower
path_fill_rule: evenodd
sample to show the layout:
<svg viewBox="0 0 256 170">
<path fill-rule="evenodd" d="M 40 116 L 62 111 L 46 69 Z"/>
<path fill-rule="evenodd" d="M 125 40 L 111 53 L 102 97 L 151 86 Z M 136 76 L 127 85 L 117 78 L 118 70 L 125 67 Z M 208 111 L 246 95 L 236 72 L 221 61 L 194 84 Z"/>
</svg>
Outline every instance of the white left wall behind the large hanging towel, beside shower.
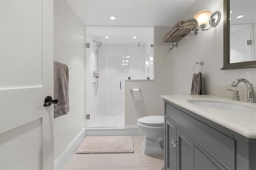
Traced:
<svg viewBox="0 0 256 170">
<path fill-rule="evenodd" d="M 54 0 L 54 61 L 69 70 L 70 112 L 54 119 L 54 159 L 84 128 L 84 25 L 66 0 Z"/>
</svg>

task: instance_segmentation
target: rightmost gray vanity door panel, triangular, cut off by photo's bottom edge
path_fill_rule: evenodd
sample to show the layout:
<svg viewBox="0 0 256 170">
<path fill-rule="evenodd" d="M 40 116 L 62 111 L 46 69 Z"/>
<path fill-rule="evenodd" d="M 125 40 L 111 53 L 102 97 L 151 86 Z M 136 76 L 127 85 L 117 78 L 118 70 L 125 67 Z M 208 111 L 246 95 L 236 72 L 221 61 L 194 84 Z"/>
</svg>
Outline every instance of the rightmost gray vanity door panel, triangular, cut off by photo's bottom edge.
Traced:
<svg viewBox="0 0 256 170">
<path fill-rule="evenodd" d="M 195 170 L 221 170 L 208 156 L 206 156 L 200 149 L 195 147 L 194 154 Z"/>
</svg>

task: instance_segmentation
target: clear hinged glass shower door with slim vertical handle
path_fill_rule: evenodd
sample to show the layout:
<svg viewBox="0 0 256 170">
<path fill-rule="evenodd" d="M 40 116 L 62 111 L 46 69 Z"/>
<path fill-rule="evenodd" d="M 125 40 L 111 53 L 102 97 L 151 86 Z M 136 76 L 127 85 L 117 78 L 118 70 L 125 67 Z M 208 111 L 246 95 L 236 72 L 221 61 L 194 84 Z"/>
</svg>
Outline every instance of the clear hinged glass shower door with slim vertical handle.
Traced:
<svg viewBox="0 0 256 170">
<path fill-rule="evenodd" d="M 86 36 L 86 120 L 89 128 L 124 127 L 124 70 L 122 62 L 122 47 L 112 41 L 106 41 L 102 36 Z M 94 41 L 94 42 L 93 42 Z M 97 43 L 102 43 L 97 47 Z M 98 71 L 97 71 L 98 49 Z M 125 62 L 125 61 L 124 61 Z M 96 71 L 99 78 L 93 77 Z M 98 79 L 98 91 L 95 94 L 95 85 Z"/>
</svg>

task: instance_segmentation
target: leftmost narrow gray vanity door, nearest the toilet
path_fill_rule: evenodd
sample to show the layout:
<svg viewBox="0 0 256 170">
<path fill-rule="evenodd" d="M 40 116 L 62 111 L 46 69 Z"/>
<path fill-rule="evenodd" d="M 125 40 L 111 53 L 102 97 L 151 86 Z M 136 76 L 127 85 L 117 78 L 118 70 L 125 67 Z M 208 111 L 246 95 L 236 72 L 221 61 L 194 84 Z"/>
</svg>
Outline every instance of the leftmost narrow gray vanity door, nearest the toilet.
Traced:
<svg viewBox="0 0 256 170">
<path fill-rule="evenodd" d="M 165 167 L 166 170 L 177 170 L 177 152 L 171 141 L 176 141 L 176 127 L 165 119 Z"/>
</svg>

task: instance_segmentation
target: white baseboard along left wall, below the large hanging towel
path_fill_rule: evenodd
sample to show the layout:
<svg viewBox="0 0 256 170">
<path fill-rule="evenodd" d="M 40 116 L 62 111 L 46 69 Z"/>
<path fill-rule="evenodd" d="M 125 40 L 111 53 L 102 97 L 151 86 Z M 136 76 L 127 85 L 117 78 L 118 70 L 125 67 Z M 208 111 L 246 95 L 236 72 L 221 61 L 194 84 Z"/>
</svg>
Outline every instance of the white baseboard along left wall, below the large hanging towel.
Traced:
<svg viewBox="0 0 256 170">
<path fill-rule="evenodd" d="M 63 170 L 72 155 L 76 152 L 80 144 L 85 138 L 85 128 L 83 128 L 73 141 L 63 150 L 63 152 L 54 161 L 54 170 Z"/>
</svg>

